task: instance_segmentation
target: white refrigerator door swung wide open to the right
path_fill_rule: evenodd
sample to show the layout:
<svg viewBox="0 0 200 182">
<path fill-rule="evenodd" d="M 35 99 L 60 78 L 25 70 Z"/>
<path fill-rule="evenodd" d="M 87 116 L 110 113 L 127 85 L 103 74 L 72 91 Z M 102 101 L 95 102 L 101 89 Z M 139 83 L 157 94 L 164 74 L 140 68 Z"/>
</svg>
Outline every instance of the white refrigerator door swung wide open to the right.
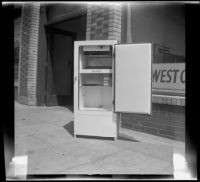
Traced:
<svg viewBox="0 0 200 182">
<path fill-rule="evenodd" d="M 151 114 L 152 44 L 115 45 L 115 112 Z"/>
</svg>

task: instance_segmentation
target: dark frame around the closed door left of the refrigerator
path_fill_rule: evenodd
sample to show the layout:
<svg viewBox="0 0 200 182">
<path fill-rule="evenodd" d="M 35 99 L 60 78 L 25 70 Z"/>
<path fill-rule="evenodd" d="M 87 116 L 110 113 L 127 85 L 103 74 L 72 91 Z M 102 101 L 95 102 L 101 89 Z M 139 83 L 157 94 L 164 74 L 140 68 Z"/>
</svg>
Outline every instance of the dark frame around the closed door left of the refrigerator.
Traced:
<svg viewBox="0 0 200 182">
<path fill-rule="evenodd" d="M 70 32 L 70 31 L 66 31 L 66 30 L 62 30 L 62 29 L 58 29 L 53 27 L 53 25 L 46 25 L 45 26 L 45 31 L 46 31 L 46 36 L 47 36 L 47 58 L 46 58 L 46 64 L 45 64 L 45 106 L 50 106 L 51 104 L 49 104 L 48 99 L 51 96 L 51 94 L 49 93 L 48 90 L 48 86 L 49 84 L 52 84 L 49 80 L 49 66 L 51 65 L 51 59 L 50 59 L 50 54 L 53 53 L 53 42 L 54 42 L 54 34 L 61 34 L 61 35 L 66 35 L 66 36 L 70 36 L 72 37 L 72 41 L 75 41 L 77 38 L 77 33 L 75 32 Z M 74 52 L 74 46 L 73 46 L 73 52 Z M 73 54 L 72 52 L 72 54 Z M 51 56 L 52 57 L 52 56 Z M 72 84 L 71 84 L 71 89 L 72 89 L 72 99 L 73 99 L 73 75 L 74 73 L 74 69 L 73 69 L 73 64 L 72 64 Z M 57 102 L 55 102 L 55 104 L 53 103 L 53 105 L 58 105 Z"/>
</svg>

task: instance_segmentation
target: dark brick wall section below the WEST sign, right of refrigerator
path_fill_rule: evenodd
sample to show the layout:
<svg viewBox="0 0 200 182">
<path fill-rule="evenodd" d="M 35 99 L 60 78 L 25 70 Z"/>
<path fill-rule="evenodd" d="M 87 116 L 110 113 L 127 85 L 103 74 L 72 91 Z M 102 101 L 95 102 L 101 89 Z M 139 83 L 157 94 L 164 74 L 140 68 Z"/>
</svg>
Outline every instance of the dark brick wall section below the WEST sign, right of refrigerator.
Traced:
<svg viewBox="0 0 200 182">
<path fill-rule="evenodd" d="M 185 107 L 152 104 L 152 115 L 126 113 L 121 115 L 121 126 L 136 131 L 185 140 Z"/>
</svg>

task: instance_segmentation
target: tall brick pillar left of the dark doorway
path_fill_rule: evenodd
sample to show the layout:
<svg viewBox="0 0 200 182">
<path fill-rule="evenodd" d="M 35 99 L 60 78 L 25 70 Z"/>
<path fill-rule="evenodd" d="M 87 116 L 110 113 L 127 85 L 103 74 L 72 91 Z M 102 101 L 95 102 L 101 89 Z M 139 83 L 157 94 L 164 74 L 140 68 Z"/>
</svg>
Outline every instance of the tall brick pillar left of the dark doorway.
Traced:
<svg viewBox="0 0 200 182">
<path fill-rule="evenodd" d="M 25 3 L 22 10 L 19 53 L 19 97 L 21 103 L 36 105 L 39 3 Z"/>
</svg>

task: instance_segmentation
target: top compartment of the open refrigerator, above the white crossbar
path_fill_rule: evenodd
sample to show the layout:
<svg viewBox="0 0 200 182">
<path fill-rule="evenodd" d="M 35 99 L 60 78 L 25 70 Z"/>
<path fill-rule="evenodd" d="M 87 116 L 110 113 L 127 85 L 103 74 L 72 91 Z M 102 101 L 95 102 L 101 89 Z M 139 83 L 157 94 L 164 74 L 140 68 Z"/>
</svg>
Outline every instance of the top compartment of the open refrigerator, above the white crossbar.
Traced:
<svg viewBox="0 0 200 182">
<path fill-rule="evenodd" d="M 105 47 L 105 46 L 104 46 Z M 87 48 L 87 49 L 86 49 Z M 112 47 L 80 46 L 80 69 L 112 69 Z"/>
</svg>

